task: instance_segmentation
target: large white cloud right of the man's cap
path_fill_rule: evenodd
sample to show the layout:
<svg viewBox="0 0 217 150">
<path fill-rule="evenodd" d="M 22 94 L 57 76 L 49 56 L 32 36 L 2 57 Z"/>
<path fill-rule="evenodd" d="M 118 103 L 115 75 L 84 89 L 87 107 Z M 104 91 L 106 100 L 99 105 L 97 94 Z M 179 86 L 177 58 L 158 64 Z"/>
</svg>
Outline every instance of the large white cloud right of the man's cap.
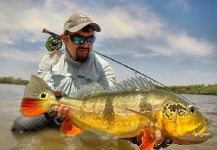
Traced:
<svg viewBox="0 0 217 150">
<path fill-rule="evenodd" d="M 131 43 L 127 44 L 143 49 L 141 55 L 147 50 L 152 50 L 153 53 L 162 55 L 183 54 L 204 57 L 215 50 L 215 44 L 189 36 L 185 31 L 174 30 L 151 10 L 134 7 L 113 8 L 112 11 L 106 12 L 106 18 L 103 17 L 104 14 L 101 15 L 103 18 L 101 24 L 105 28 L 104 41 L 116 39 L 121 43 L 119 45 L 121 49 L 126 42 L 120 40 L 131 40 Z M 132 41 L 132 39 L 137 40 Z M 124 51 L 126 52 L 126 49 Z"/>
</svg>

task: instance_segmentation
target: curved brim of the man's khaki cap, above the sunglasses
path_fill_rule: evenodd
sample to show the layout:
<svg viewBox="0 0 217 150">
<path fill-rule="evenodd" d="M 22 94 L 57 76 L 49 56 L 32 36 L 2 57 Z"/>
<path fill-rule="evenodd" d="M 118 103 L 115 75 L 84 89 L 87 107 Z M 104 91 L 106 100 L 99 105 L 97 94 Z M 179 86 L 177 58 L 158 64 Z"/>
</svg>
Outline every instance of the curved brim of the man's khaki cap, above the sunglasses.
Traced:
<svg viewBox="0 0 217 150">
<path fill-rule="evenodd" d="M 69 32 L 78 32 L 79 30 L 81 30 L 83 27 L 85 27 L 87 25 L 90 25 L 91 27 L 93 27 L 94 31 L 96 31 L 96 32 L 101 31 L 101 28 L 99 27 L 99 25 L 96 24 L 96 23 L 92 23 L 92 22 L 90 22 L 90 23 L 81 23 L 81 24 L 79 24 L 77 26 L 74 26 L 74 27 L 72 27 L 70 29 L 67 29 L 67 30 Z"/>
</svg>

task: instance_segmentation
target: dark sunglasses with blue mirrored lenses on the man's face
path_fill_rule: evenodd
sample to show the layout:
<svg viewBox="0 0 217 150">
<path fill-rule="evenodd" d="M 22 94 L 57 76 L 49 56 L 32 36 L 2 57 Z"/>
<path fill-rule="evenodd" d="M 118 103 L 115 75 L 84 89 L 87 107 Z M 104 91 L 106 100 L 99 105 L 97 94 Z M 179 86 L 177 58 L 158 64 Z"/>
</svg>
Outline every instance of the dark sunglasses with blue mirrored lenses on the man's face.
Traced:
<svg viewBox="0 0 217 150">
<path fill-rule="evenodd" d="M 96 37 L 94 35 L 88 37 L 82 37 L 79 35 L 69 35 L 69 38 L 76 45 L 83 45 L 85 41 L 87 41 L 87 44 L 93 45 L 93 43 L 96 40 Z"/>
</svg>

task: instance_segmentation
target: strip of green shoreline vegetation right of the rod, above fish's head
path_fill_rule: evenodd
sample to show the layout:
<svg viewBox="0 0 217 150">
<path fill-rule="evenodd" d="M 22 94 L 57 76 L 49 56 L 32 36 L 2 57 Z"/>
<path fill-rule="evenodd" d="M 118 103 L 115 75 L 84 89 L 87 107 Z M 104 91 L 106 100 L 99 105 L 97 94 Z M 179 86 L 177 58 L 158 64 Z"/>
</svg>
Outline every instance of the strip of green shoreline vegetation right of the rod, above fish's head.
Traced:
<svg viewBox="0 0 217 150">
<path fill-rule="evenodd" d="M 217 95 L 217 84 L 209 85 L 189 85 L 189 86 L 170 86 L 172 91 L 179 94 L 205 94 Z"/>
</svg>

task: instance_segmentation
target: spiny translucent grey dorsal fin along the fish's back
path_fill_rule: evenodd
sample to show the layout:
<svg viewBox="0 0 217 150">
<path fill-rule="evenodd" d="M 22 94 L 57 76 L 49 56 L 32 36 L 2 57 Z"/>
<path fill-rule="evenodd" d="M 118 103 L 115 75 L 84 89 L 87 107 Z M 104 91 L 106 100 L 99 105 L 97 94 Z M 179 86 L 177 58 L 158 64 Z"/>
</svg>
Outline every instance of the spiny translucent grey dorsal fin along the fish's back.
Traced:
<svg viewBox="0 0 217 150">
<path fill-rule="evenodd" d="M 103 88 L 99 83 L 92 83 L 79 90 L 71 93 L 73 98 L 86 98 L 90 96 L 96 96 L 98 94 L 111 94 L 117 92 L 130 92 L 130 91 L 149 91 L 154 86 L 145 77 L 132 77 L 127 80 L 123 80 L 120 83 L 115 83 L 113 87 Z"/>
</svg>

